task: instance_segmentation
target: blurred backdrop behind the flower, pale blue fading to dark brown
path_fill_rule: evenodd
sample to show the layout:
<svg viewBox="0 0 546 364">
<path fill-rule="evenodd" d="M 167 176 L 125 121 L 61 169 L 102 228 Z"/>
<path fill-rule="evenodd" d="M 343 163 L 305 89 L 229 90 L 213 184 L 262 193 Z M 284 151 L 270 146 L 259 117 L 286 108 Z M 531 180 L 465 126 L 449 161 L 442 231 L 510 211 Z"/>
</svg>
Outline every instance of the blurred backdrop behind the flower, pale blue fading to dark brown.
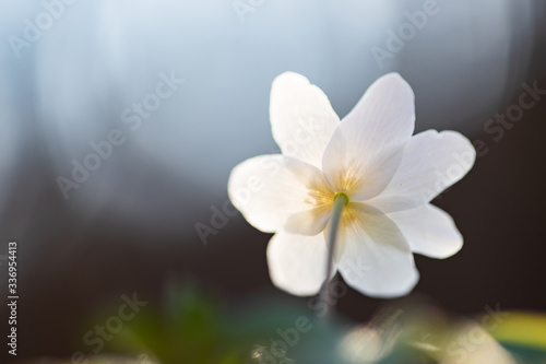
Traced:
<svg viewBox="0 0 546 364">
<path fill-rule="evenodd" d="M 456 315 L 546 310 L 545 2 L 2 0 L 0 24 L 0 269 L 16 240 L 19 359 L 90 351 L 88 317 L 122 295 L 159 302 L 169 280 L 235 305 L 307 305 L 272 285 L 270 235 L 240 214 L 211 221 L 232 168 L 278 151 L 269 93 L 284 71 L 340 117 L 400 72 L 417 131 L 476 145 L 475 167 L 435 201 L 465 245 L 417 256 L 412 295 Z M 514 107 L 522 93 L 532 107 Z M 118 145 L 90 157 L 105 140 Z M 385 304 L 348 289 L 336 310 L 366 322 Z"/>
</svg>

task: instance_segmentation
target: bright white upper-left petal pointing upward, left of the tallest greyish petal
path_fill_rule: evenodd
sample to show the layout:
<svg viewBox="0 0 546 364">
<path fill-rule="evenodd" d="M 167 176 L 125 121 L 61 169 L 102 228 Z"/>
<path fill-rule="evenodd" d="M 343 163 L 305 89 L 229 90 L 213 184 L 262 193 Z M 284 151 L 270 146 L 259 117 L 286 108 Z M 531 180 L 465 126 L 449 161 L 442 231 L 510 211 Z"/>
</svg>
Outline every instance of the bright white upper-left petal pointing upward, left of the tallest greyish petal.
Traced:
<svg viewBox="0 0 546 364">
<path fill-rule="evenodd" d="M 298 73 L 278 75 L 271 89 L 270 118 L 273 138 L 284 155 L 321 167 L 340 118 L 319 87 Z"/>
</svg>

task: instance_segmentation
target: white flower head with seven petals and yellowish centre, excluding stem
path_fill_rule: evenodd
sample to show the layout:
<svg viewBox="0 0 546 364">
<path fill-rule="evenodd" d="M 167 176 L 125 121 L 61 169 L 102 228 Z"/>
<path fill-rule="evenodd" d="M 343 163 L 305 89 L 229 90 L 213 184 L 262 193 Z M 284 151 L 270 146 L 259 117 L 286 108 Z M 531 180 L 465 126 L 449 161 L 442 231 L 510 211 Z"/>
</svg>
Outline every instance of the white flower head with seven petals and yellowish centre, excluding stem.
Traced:
<svg viewBox="0 0 546 364">
<path fill-rule="evenodd" d="M 404 295 L 419 279 L 413 253 L 447 258 L 461 249 L 451 216 L 429 202 L 471 169 L 475 150 L 454 131 L 412 136 L 414 94 L 400 74 L 377 80 L 340 121 L 319 87 L 286 72 L 273 82 L 270 117 L 282 154 L 236 166 L 228 192 L 250 224 L 275 233 L 268 246 L 275 285 L 296 295 L 319 292 L 340 192 L 349 202 L 334 272 L 364 294 Z"/>
</svg>

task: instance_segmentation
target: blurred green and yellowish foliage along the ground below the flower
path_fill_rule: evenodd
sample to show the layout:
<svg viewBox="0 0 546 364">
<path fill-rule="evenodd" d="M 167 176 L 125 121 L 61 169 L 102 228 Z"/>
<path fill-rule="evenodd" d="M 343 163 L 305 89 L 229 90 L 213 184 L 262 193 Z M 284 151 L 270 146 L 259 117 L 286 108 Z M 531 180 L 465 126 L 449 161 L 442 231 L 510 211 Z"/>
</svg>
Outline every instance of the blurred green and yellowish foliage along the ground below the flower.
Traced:
<svg viewBox="0 0 546 364">
<path fill-rule="evenodd" d="M 486 306 L 468 319 L 413 297 L 366 325 L 320 316 L 298 298 L 226 304 L 194 283 L 170 284 L 109 341 L 105 352 L 118 356 L 86 364 L 546 364 L 544 314 Z"/>
</svg>

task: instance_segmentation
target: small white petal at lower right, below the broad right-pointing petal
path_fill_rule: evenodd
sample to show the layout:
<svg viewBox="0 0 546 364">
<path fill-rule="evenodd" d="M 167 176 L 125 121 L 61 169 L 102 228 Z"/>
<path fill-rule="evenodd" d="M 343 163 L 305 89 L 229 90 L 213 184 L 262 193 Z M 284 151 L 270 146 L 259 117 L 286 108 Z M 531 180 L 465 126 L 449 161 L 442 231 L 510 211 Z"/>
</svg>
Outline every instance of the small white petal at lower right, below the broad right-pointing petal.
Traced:
<svg viewBox="0 0 546 364">
<path fill-rule="evenodd" d="M 432 204 L 394 212 L 389 218 L 404 234 L 414 253 L 431 258 L 448 258 L 463 246 L 463 236 L 446 211 Z"/>
</svg>

